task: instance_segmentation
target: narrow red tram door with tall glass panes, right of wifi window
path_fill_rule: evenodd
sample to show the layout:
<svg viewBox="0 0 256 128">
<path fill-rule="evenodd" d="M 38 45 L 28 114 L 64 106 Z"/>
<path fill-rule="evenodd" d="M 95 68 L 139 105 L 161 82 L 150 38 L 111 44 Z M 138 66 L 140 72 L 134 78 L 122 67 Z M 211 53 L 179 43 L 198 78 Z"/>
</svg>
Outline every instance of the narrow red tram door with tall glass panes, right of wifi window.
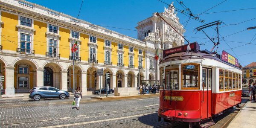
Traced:
<svg viewBox="0 0 256 128">
<path fill-rule="evenodd" d="M 212 69 L 203 68 L 202 73 L 202 108 L 201 116 L 202 119 L 211 117 L 212 108 Z"/>
</svg>

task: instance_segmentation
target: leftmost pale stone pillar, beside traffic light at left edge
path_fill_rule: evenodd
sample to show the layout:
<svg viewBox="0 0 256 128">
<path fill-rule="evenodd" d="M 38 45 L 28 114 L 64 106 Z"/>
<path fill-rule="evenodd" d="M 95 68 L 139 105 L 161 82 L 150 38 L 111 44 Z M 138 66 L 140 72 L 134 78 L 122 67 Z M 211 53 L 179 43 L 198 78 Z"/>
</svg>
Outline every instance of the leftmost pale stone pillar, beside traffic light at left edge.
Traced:
<svg viewBox="0 0 256 128">
<path fill-rule="evenodd" d="M 14 95 L 14 67 L 5 67 L 5 84 L 6 84 L 6 95 Z M 19 86 L 19 85 L 17 85 Z"/>
</svg>

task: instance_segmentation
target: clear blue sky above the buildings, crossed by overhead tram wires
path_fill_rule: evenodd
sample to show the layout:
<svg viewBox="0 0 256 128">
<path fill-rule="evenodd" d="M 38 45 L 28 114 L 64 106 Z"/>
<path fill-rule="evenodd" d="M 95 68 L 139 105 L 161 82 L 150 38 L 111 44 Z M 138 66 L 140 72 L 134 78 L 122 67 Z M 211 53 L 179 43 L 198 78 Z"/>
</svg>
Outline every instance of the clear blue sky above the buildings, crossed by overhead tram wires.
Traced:
<svg viewBox="0 0 256 128">
<path fill-rule="evenodd" d="M 73 17 L 78 16 L 82 2 L 82 0 L 73 0 L 72 2 L 70 2 L 70 0 L 28 1 L 45 6 L 58 12 L 65 13 L 67 15 L 71 15 Z M 172 3 L 172 0 L 162 1 L 169 4 Z M 184 8 L 177 2 L 180 0 L 173 1 L 174 6 L 177 9 L 184 10 Z M 86 20 L 97 25 L 136 30 L 135 26 L 137 26 L 137 22 L 144 20 L 147 17 L 151 17 L 152 13 L 154 12 L 163 12 L 164 6 L 166 6 L 166 8 L 168 7 L 168 5 L 165 3 L 162 3 L 158 0 L 84 0 L 79 19 Z M 207 9 L 209 10 L 205 13 L 247 9 L 232 12 L 202 14 L 199 15 L 199 18 L 205 20 L 205 23 L 221 20 L 226 24 L 226 26 L 221 24 L 220 27 L 223 27 L 219 28 L 221 37 L 224 37 L 224 40 L 226 41 L 220 41 L 219 48 L 217 50 L 219 51 L 219 54 L 221 54 L 222 50 L 228 49 L 226 51 L 234 57 L 239 58 L 239 62 L 242 66 L 256 61 L 254 58 L 256 55 L 256 40 L 254 40 L 251 44 L 247 44 L 252 41 L 253 36 L 256 34 L 256 29 L 252 29 L 250 31 L 246 30 L 247 27 L 256 26 L 256 9 L 249 9 L 256 8 L 256 0 L 183 0 L 183 3 L 187 8 L 191 10 L 192 14 L 194 15 L 201 14 Z M 189 17 L 183 15 L 180 12 L 178 12 L 177 16 L 180 18 L 180 23 L 183 23 L 189 19 Z M 246 22 L 241 23 L 243 21 Z M 186 23 L 183 25 L 185 26 Z M 204 24 L 193 19 L 189 20 L 185 28 L 186 32 L 184 33 L 186 39 L 188 39 L 190 42 L 197 41 L 199 44 L 209 41 L 209 39 L 202 39 L 207 38 L 206 35 L 204 35 L 202 32 L 193 32 L 196 27 L 201 25 Z M 114 28 L 108 29 L 137 38 L 136 31 Z M 216 32 L 211 28 L 206 29 L 206 32 L 210 37 L 216 36 Z M 236 34 L 232 35 L 233 33 Z M 254 38 L 256 38 L 256 36 Z M 233 48 L 235 53 L 233 53 L 227 44 Z M 201 49 L 210 50 L 213 47 L 211 42 L 207 42 L 205 45 L 205 47 L 204 45 L 201 45 Z M 244 55 L 246 53 L 251 54 Z"/>
</svg>

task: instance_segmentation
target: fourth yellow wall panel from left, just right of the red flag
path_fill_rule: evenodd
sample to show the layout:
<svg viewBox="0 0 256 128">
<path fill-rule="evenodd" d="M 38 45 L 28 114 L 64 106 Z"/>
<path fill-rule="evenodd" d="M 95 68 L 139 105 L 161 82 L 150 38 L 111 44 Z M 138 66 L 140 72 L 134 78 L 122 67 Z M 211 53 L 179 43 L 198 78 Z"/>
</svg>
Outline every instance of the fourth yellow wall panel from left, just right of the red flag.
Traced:
<svg viewBox="0 0 256 128">
<path fill-rule="evenodd" d="M 82 41 L 80 46 L 80 57 L 81 57 L 81 60 L 87 61 L 89 57 L 88 45 L 87 45 L 89 41 L 89 35 L 80 33 L 80 40 Z"/>
</svg>

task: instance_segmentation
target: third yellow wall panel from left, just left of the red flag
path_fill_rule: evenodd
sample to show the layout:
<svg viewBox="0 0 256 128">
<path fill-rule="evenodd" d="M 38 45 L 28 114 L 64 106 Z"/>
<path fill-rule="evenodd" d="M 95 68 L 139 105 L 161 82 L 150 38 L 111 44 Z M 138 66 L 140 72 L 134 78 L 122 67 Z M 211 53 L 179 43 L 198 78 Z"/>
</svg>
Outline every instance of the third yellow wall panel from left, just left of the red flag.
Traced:
<svg viewBox="0 0 256 128">
<path fill-rule="evenodd" d="M 70 55 L 70 41 L 69 41 L 69 37 L 70 37 L 70 30 L 69 29 L 64 29 L 60 27 L 60 54 L 61 57 L 64 58 L 69 58 Z M 73 78 L 73 77 L 72 77 Z M 73 86 L 73 84 L 71 84 Z"/>
</svg>

